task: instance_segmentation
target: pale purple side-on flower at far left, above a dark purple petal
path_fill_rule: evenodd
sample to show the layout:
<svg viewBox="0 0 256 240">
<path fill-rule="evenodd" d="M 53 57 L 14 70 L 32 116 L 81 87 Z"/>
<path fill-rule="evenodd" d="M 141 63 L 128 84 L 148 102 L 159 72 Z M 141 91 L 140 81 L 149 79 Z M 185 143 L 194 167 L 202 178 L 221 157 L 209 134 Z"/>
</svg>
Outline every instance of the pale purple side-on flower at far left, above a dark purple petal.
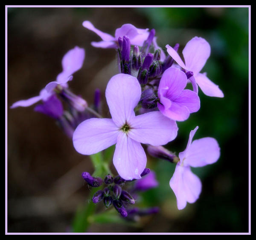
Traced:
<svg viewBox="0 0 256 240">
<path fill-rule="evenodd" d="M 73 76 L 71 76 L 74 72 L 78 71 L 84 61 L 84 49 L 79 47 L 75 47 L 68 51 L 63 59 L 62 59 L 62 68 L 63 71 L 58 74 L 56 81 L 50 82 L 47 86 L 40 91 L 39 96 L 31 97 L 27 100 L 20 100 L 16 103 L 12 104 L 11 108 L 16 107 L 28 107 L 37 103 L 40 100 L 46 101 L 51 97 L 55 92 L 53 89 L 59 84 L 63 88 L 67 88 L 67 82 L 72 80 Z"/>
</svg>

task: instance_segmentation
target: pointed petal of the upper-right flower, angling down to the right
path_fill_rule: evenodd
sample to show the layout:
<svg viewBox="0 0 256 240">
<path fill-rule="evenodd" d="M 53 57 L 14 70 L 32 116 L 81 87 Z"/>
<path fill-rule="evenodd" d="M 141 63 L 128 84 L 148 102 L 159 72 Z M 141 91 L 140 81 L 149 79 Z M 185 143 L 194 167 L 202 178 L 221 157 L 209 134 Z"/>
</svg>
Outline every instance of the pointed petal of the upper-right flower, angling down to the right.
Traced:
<svg viewBox="0 0 256 240">
<path fill-rule="evenodd" d="M 206 73 L 198 73 L 195 76 L 196 82 L 203 93 L 209 97 L 224 97 L 223 92 L 219 89 L 218 85 L 213 83 L 206 76 Z"/>
</svg>

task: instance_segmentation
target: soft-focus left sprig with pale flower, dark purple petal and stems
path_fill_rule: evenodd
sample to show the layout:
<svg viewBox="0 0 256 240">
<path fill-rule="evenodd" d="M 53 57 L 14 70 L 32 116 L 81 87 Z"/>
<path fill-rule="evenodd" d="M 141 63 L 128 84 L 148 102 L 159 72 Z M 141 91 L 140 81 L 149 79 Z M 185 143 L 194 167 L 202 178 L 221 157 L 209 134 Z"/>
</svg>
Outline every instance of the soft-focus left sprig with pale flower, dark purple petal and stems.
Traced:
<svg viewBox="0 0 256 240">
<path fill-rule="evenodd" d="M 35 111 L 46 114 L 57 120 L 63 131 L 72 138 L 76 126 L 83 120 L 90 117 L 84 112 L 87 109 L 87 102 L 70 91 L 68 82 L 73 79 L 73 74 L 81 69 L 84 62 L 85 51 L 75 47 L 68 51 L 62 59 L 62 72 L 56 77 L 56 81 L 48 83 L 40 91 L 39 96 L 26 100 L 19 100 L 13 103 L 11 108 L 28 107 L 41 101 L 35 106 Z M 64 109 L 63 100 L 68 104 L 68 109 Z"/>
</svg>

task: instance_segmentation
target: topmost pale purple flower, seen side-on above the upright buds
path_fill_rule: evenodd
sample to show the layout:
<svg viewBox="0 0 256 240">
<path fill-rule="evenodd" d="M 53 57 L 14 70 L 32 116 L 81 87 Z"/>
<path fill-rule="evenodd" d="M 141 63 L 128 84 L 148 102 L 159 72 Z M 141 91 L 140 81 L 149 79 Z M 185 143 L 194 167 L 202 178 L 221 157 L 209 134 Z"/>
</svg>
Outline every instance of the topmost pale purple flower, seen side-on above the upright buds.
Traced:
<svg viewBox="0 0 256 240">
<path fill-rule="evenodd" d="M 95 32 L 99 37 L 102 38 L 100 42 L 92 42 L 92 46 L 96 48 L 117 48 L 118 47 L 118 38 L 127 36 L 131 41 L 131 45 L 142 46 L 144 41 L 148 38 L 148 29 L 137 29 L 131 24 L 124 24 L 121 28 L 116 29 L 115 37 L 111 36 L 108 33 L 102 32 L 99 29 L 96 29 L 93 24 L 89 21 L 84 21 L 83 26 L 93 32 Z"/>
</svg>

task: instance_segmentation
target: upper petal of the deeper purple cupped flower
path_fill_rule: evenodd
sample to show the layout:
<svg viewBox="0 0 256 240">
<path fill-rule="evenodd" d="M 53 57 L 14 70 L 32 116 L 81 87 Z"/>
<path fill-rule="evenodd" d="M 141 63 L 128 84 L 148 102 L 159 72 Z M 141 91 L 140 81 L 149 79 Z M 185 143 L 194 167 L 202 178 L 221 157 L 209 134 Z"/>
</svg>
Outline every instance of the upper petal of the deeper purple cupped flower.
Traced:
<svg viewBox="0 0 256 240">
<path fill-rule="evenodd" d="M 177 98 L 187 84 L 186 74 L 178 68 L 170 67 L 164 71 L 161 77 L 158 95 L 167 97 L 170 100 Z"/>
</svg>

